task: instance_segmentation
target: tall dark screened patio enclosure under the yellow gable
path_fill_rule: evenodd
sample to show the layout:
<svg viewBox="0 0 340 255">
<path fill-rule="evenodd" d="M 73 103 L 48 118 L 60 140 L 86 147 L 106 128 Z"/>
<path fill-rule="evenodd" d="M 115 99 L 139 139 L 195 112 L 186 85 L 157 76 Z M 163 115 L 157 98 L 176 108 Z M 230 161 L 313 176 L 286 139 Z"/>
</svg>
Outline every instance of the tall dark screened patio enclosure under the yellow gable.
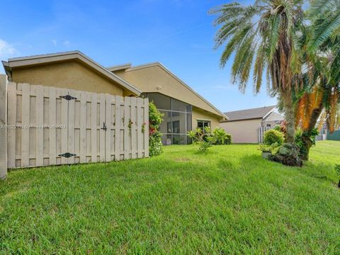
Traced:
<svg viewBox="0 0 340 255">
<path fill-rule="evenodd" d="M 186 133 L 192 130 L 191 104 L 184 103 L 159 93 L 143 93 L 142 96 L 154 102 L 157 109 L 164 113 L 160 125 L 163 145 L 187 145 L 191 142 Z"/>
</svg>

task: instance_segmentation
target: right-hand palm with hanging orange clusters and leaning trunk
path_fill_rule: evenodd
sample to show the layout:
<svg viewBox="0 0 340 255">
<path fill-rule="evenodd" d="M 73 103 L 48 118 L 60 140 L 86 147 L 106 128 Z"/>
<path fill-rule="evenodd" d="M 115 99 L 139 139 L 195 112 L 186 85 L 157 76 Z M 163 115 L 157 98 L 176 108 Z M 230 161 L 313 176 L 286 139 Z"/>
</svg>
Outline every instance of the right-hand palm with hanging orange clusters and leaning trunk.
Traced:
<svg viewBox="0 0 340 255">
<path fill-rule="evenodd" d="M 311 23 L 304 42 L 307 48 L 314 41 L 319 21 Z M 312 38 L 308 38 L 308 34 Z M 340 123 L 340 33 L 333 33 L 317 50 L 306 52 L 304 62 L 308 69 L 304 77 L 304 89 L 296 104 L 296 123 L 302 128 L 302 158 L 308 159 L 312 136 L 319 123 L 326 121 L 330 132 Z"/>
</svg>

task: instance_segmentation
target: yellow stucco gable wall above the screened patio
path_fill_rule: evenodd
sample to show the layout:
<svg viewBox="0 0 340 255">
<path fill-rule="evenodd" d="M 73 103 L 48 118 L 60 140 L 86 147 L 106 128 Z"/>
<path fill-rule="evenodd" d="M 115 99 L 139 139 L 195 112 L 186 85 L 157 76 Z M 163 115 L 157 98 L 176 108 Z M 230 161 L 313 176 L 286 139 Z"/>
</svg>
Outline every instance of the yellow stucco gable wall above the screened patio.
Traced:
<svg viewBox="0 0 340 255">
<path fill-rule="evenodd" d="M 198 108 L 205 109 L 216 114 L 216 118 L 222 119 L 214 108 L 205 103 L 202 98 L 188 89 L 181 81 L 173 77 L 162 67 L 151 66 L 137 69 L 128 69 L 126 71 L 114 71 L 115 74 L 135 85 L 143 92 L 157 92 L 176 98 L 180 101 L 189 103 Z"/>
</svg>

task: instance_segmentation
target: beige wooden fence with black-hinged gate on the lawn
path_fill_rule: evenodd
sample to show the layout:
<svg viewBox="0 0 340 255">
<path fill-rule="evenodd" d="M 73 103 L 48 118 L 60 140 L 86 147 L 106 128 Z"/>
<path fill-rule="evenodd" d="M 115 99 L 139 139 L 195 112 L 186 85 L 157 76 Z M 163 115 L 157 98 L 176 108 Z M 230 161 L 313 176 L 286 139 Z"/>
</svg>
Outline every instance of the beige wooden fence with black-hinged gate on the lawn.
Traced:
<svg viewBox="0 0 340 255">
<path fill-rule="evenodd" d="M 8 168 L 149 156 L 147 99 L 8 83 Z"/>
</svg>

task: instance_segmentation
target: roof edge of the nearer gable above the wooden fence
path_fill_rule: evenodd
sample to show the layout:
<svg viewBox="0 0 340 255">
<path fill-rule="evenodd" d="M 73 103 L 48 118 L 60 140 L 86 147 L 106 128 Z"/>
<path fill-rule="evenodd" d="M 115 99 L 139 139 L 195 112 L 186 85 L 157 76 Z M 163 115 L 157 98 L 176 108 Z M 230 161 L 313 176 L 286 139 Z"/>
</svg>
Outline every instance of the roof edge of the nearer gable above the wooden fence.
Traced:
<svg viewBox="0 0 340 255">
<path fill-rule="evenodd" d="M 83 62 L 87 66 L 94 69 L 96 72 L 102 74 L 104 77 L 111 81 L 115 81 L 116 83 L 120 84 L 120 86 L 123 86 L 123 88 L 127 89 L 128 91 L 131 91 L 132 93 L 139 96 L 142 91 L 137 89 L 135 86 L 132 86 L 128 83 L 128 81 L 125 81 L 124 79 L 118 77 L 118 75 L 114 74 L 110 70 L 103 67 L 101 64 L 98 64 L 94 60 L 91 60 L 91 58 L 84 55 L 82 52 L 78 50 L 70 51 L 70 52 L 59 52 L 59 53 L 53 53 L 53 54 L 46 54 L 46 55 L 35 55 L 30 57 L 14 57 L 11 59 L 8 59 L 8 62 L 3 61 L 4 69 L 6 71 L 6 74 L 8 77 L 11 77 L 11 69 L 16 67 L 28 67 L 33 66 L 37 64 L 46 64 L 50 62 L 61 62 L 61 61 L 67 61 L 67 60 L 79 60 L 80 62 Z"/>
</svg>

